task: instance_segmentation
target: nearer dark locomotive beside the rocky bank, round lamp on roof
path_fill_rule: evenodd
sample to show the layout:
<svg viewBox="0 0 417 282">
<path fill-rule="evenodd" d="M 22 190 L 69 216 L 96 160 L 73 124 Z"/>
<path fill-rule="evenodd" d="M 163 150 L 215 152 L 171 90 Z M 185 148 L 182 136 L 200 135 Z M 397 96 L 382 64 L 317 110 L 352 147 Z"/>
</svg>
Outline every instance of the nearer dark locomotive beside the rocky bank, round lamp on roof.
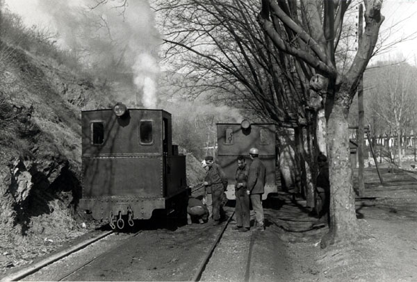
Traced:
<svg viewBox="0 0 417 282">
<path fill-rule="evenodd" d="M 121 229 L 154 210 L 186 207 L 186 157 L 172 145 L 170 113 L 118 103 L 82 111 L 81 126 L 80 208 Z"/>
</svg>

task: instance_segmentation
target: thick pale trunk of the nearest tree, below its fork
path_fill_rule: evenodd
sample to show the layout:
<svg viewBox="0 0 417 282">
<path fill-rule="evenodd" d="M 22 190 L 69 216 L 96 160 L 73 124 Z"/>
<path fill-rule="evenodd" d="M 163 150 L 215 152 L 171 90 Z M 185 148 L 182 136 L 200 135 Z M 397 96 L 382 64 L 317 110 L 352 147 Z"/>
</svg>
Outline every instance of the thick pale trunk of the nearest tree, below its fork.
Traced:
<svg viewBox="0 0 417 282">
<path fill-rule="evenodd" d="M 345 93 L 338 93 L 345 94 Z M 345 97 L 348 97 L 346 94 Z M 329 233 L 322 238 L 321 247 L 334 242 L 355 240 L 358 226 L 351 183 L 348 106 L 335 99 L 327 120 L 327 153 L 329 154 L 330 222 Z"/>
</svg>

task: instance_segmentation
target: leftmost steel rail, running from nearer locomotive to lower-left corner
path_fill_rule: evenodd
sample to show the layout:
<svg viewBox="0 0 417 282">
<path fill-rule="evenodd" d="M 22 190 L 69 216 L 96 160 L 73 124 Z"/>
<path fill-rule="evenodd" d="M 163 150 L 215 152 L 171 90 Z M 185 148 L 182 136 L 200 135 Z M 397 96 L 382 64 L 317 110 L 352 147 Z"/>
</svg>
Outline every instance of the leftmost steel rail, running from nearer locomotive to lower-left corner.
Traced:
<svg viewBox="0 0 417 282">
<path fill-rule="evenodd" d="M 85 242 L 81 242 L 79 244 L 76 244 L 73 247 L 70 247 L 68 249 L 65 249 L 63 251 L 59 251 L 58 253 L 49 256 L 48 258 L 45 258 L 44 260 L 41 260 L 38 263 L 34 263 L 33 265 L 26 267 L 25 269 L 20 270 L 19 272 L 16 272 L 14 274 L 10 274 L 9 276 L 4 277 L 0 281 L 19 281 L 20 279 L 23 279 L 26 276 L 29 276 L 35 272 L 38 272 L 39 269 L 50 265 L 51 263 L 55 263 L 56 261 L 65 258 L 66 256 L 69 256 L 70 254 L 73 254 L 76 251 L 79 251 L 80 249 L 83 249 L 87 247 L 88 245 L 97 242 L 98 240 L 101 240 L 102 238 L 110 235 L 113 233 L 113 231 L 108 231 L 104 234 L 100 234 L 95 238 L 92 238 L 90 240 L 86 240 Z"/>
</svg>

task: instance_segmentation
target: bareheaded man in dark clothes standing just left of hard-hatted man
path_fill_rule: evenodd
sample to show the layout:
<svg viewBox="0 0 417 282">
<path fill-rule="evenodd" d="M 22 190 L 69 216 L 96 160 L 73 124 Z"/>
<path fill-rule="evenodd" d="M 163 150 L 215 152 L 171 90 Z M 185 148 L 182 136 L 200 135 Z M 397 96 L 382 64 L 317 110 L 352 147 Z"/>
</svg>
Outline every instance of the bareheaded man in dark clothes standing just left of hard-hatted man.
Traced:
<svg viewBox="0 0 417 282">
<path fill-rule="evenodd" d="M 246 192 L 248 168 L 244 156 L 238 156 L 238 168 L 236 169 L 236 229 L 246 232 L 250 229 L 250 199 Z"/>
</svg>

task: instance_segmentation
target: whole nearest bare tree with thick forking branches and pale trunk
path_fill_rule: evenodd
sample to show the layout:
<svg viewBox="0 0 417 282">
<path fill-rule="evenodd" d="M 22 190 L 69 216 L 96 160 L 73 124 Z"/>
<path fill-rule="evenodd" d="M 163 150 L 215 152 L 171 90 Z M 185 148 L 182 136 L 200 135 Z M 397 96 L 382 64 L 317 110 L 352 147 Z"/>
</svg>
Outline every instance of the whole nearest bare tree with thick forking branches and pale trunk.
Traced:
<svg viewBox="0 0 417 282">
<path fill-rule="evenodd" d="M 363 40 L 350 68 L 345 74 L 339 72 L 335 53 L 350 2 L 302 0 L 297 6 L 295 1 L 263 0 L 259 14 L 261 26 L 281 52 L 291 54 L 301 65 L 313 67 L 327 79 L 327 85 L 322 87 L 327 90 L 325 116 L 331 205 L 330 230 L 322 238 L 322 247 L 357 238 L 347 117 L 359 78 L 373 54 L 379 27 L 384 21 L 382 1 L 364 1 Z M 293 38 L 297 45 L 288 40 Z"/>
</svg>

